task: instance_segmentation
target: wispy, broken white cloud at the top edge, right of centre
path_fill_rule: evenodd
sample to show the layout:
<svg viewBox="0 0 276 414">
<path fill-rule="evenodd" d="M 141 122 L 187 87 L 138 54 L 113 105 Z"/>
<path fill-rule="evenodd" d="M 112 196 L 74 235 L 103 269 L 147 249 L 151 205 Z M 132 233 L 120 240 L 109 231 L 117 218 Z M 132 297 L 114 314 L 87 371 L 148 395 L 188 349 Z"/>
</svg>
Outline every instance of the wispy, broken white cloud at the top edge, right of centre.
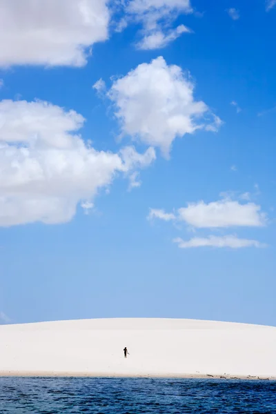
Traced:
<svg viewBox="0 0 276 414">
<path fill-rule="evenodd" d="M 182 33 L 190 32 L 184 25 L 171 28 L 180 14 L 193 12 L 190 0 L 130 0 L 124 4 L 126 16 L 120 21 L 118 30 L 125 28 L 128 21 L 141 23 L 138 48 L 164 48 Z"/>
</svg>

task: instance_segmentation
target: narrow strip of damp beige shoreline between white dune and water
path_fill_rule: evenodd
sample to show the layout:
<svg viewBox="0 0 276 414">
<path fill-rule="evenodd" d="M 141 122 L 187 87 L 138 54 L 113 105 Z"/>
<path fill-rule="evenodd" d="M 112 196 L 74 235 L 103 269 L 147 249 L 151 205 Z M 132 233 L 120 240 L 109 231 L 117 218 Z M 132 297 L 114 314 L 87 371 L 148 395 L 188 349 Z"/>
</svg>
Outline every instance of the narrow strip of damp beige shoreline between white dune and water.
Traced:
<svg viewBox="0 0 276 414">
<path fill-rule="evenodd" d="M 48 371 L 0 371 L 0 378 L 149 378 L 149 379 L 198 379 L 198 380 L 247 380 L 247 381 L 276 381 L 276 377 L 259 377 L 257 375 L 230 375 L 230 374 L 116 374 L 116 373 L 73 373 Z"/>
</svg>

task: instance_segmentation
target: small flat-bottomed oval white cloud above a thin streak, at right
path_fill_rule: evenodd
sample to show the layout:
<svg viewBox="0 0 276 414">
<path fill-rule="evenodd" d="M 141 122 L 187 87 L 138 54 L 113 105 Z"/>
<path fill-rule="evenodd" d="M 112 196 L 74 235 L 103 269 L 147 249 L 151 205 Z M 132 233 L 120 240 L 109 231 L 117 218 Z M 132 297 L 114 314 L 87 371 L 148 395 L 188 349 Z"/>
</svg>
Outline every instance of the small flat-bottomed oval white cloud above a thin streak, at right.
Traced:
<svg viewBox="0 0 276 414">
<path fill-rule="evenodd" d="M 254 203 L 222 199 L 209 204 L 204 201 L 179 208 L 179 219 L 197 228 L 224 228 L 230 226 L 258 227 L 266 224 L 266 215 Z"/>
</svg>

